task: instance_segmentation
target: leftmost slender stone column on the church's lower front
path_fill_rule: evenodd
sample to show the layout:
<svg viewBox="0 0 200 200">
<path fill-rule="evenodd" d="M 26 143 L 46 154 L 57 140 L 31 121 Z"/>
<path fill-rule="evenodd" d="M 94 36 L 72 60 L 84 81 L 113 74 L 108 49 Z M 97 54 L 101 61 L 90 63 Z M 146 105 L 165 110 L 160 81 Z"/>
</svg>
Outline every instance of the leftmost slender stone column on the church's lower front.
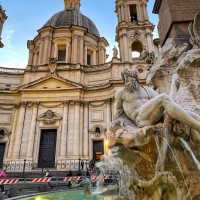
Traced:
<svg viewBox="0 0 200 200">
<path fill-rule="evenodd" d="M 14 150 L 13 149 L 13 143 L 14 143 L 14 139 L 15 139 L 16 125 L 17 125 L 17 120 L 18 120 L 18 113 L 19 113 L 19 106 L 16 105 L 14 121 L 13 121 L 13 126 L 12 126 L 12 133 L 11 133 L 11 138 L 10 138 L 10 145 L 9 145 L 9 150 L 8 150 L 8 158 L 10 158 L 12 156 L 12 151 Z"/>
</svg>

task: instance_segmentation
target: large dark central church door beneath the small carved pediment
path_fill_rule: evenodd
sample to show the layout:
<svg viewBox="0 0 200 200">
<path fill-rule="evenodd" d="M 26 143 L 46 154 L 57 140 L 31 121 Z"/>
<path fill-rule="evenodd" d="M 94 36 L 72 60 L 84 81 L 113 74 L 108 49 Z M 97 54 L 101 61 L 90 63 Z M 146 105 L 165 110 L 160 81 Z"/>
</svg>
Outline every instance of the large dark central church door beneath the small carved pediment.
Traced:
<svg viewBox="0 0 200 200">
<path fill-rule="evenodd" d="M 38 168 L 55 167 L 56 137 L 56 129 L 41 130 Z"/>
</svg>

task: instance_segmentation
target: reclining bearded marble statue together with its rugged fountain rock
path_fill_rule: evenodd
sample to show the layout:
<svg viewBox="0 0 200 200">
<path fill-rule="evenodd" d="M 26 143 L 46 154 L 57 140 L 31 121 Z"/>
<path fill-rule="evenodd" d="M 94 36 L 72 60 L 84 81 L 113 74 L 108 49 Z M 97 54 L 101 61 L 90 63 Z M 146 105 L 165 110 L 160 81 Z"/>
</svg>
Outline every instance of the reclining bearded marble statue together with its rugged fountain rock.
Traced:
<svg viewBox="0 0 200 200">
<path fill-rule="evenodd" d="M 200 200 L 199 22 L 200 13 L 189 26 L 191 44 L 166 42 L 148 72 L 150 86 L 133 69 L 121 73 L 108 138 L 131 199 Z"/>
</svg>

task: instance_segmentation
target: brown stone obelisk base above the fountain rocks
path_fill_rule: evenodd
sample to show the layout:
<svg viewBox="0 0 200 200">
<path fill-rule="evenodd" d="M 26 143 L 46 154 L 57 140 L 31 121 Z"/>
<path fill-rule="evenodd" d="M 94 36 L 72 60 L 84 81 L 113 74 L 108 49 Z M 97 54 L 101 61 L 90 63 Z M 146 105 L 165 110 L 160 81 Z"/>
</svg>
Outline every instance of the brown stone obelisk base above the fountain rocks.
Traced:
<svg viewBox="0 0 200 200">
<path fill-rule="evenodd" d="M 158 32 L 161 45 L 164 45 L 167 38 L 177 39 L 177 43 L 188 41 L 188 25 L 199 10 L 198 0 L 157 0 L 154 13 L 159 14 Z"/>
</svg>

